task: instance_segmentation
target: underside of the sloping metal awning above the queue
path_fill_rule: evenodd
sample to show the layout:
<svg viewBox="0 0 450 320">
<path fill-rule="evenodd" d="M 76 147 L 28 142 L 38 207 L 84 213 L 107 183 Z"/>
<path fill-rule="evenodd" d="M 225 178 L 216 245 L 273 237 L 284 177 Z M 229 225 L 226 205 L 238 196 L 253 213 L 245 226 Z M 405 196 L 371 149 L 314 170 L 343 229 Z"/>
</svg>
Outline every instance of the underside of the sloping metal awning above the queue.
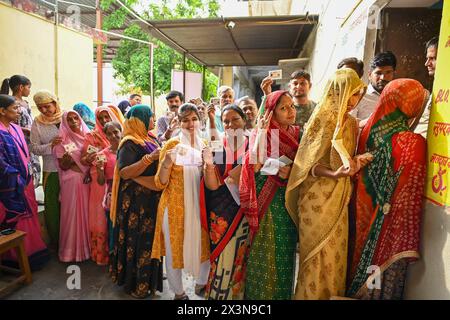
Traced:
<svg viewBox="0 0 450 320">
<path fill-rule="evenodd" d="M 151 36 L 207 67 L 268 66 L 297 58 L 317 15 L 159 20 Z"/>
</svg>

